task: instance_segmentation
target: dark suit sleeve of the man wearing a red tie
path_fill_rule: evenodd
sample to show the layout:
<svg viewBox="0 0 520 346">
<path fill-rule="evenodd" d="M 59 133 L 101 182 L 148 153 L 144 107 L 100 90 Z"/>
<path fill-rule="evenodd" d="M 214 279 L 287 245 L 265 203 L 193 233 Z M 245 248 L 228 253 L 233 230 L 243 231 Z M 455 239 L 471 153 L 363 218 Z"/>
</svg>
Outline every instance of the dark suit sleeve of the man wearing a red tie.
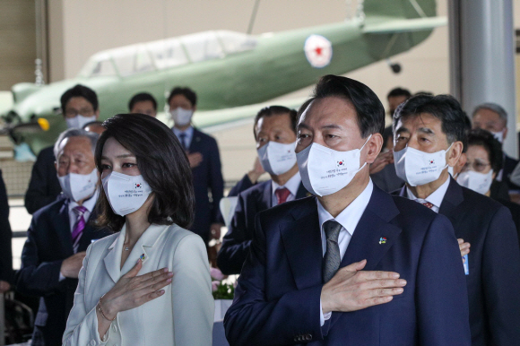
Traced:
<svg viewBox="0 0 520 346">
<path fill-rule="evenodd" d="M 253 228 L 253 225 L 249 225 Z M 217 264 L 226 275 L 239 274 L 249 254 L 251 239 L 246 234 L 253 234 L 254 229 L 247 229 L 247 203 L 242 194 L 238 195 L 237 208 L 231 220 L 228 233 L 222 239 Z"/>
</svg>

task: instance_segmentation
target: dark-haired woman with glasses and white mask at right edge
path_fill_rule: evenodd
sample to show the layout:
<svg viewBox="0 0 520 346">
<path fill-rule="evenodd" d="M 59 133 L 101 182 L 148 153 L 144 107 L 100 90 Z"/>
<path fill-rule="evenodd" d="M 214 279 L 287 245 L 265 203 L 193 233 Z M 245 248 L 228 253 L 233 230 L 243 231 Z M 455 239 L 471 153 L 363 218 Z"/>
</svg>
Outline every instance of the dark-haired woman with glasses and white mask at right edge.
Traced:
<svg viewBox="0 0 520 346">
<path fill-rule="evenodd" d="M 511 212 L 516 230 L 520 233 L 520 205 L 495 197 L 491 189 L 497 172 L 502 169 L 502 145 L 490 132 L 475 129 L 468 134 L 468 149 L 465 155 L 467 162 L 456 179 L 457 183 L 504 204 Z"/>
</svg>

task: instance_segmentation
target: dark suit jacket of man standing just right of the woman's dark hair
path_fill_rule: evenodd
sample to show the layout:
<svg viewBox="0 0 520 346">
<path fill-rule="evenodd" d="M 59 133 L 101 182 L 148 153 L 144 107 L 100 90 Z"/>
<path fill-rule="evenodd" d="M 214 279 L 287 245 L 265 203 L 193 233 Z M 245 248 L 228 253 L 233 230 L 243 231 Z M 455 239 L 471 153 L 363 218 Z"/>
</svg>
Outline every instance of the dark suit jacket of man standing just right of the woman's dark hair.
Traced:
<svg viewBox="0 0 520 346">
<path fill-rule="evenodd" d="M 203 132 L 194 129 L 189 152 L 200 152 L 202 162 L 192 169 L 195 190 L 195 221 L 191 230 L 207 243 L 210 238 L 210 226 L 220 222 L 219 203 L 224 195 L 224 180 L 221 172 L 221 156 L 217 141 Z M 212 201 L 208 193 L 212 194 Z"/>
</svg>

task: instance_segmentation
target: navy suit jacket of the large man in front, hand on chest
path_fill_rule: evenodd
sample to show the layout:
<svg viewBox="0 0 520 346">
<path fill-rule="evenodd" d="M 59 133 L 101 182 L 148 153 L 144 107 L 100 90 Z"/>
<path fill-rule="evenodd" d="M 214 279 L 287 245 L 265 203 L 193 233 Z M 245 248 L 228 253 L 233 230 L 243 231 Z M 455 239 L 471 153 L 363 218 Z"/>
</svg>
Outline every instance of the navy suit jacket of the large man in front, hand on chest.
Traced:
<svg viewBox="0 0 520 346">
<path fill-rule="evenodd" d="M 322 240 L 316 198 L 256 216 L 255 238 L 224 319 L 230 345 L 470 345 L 464 270 L 446 217 L 374 186 L 341 267 L 395 271 L 393 301 L 334 312 L 320 327 Z M 380 238 L 386 243 L 379 244 Z"/>
</svg>

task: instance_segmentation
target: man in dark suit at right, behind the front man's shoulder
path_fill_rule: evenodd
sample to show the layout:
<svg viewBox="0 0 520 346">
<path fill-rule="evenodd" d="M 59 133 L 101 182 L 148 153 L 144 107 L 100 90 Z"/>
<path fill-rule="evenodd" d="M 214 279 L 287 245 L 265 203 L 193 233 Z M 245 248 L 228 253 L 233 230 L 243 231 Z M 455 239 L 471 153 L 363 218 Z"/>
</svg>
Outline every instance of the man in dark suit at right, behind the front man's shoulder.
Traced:
<svg viewBox="0 0 520 346">
<path fill-rule="evenodd" d="M 399 195 L 446 215 L 456 238 L 471 244 L 464 268 L 472 345 L 520 340 L 520 249 L 506 207 L 449 177 L 466 140 L 464 112 L 451 96 L 416 96 L 394 114 Z M 432 163 L 432 161 L 434 161 Z"/>
</svg>

